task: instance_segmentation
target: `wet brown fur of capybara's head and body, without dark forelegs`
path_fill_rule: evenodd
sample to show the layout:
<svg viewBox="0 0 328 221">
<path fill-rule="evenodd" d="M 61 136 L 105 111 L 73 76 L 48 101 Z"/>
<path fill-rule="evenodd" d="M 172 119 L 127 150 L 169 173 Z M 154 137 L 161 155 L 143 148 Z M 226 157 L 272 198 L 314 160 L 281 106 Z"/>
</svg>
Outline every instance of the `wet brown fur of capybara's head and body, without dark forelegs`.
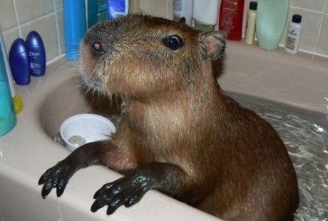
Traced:
<svg viewBox="0 0 328 221">
<path fill-rule="evenodd" d="M 166 47 L 171 35 L 183 47 Z M 94 41 L 106 53 L 97 55 Z M 289 155 L 271 125 L 220 90 L 212 61 L 222 43 L 222 34 L 149 16 L 91 29 L 81 43 L 86 85 L 124 102 L 112 138 L 119 152 L 103 161 L 122 173 L 151 162 L 178 165 L 188 178 L 172 196 L 225 220 L 292 220 L 297 179 Z"/>
</svg>

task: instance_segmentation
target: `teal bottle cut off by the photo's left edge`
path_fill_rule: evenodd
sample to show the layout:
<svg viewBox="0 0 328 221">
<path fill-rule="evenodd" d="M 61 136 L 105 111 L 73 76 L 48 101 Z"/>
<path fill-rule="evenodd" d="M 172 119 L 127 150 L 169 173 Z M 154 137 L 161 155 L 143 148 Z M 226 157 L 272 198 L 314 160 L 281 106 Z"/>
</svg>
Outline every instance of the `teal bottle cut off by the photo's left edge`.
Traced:
<svg viewBox="0 0 328 221">
<path fill-rule="evenodd" d="M 3 43 L 3 41 L 0 42 Z M 4 63 L 5 56 L 4 52 L 0 51 L 0 137 L 8 133 L 17 123 Z"/>
</svg>

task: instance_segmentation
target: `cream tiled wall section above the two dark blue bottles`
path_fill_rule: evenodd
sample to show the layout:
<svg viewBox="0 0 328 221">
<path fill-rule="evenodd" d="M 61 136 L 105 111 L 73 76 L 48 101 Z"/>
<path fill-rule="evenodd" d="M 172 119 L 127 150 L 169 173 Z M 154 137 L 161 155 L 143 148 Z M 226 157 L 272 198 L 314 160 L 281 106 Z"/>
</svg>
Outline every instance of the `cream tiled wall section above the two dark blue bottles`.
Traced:
<svg viewBox="0 0 328 221">
<path fill-rule="evenodd" d="M 38 31 L 46 47 L 47 61 L 63 53 L 62 0 L 0 1 L 0 24 L 7 52 L 16 38 Z"/>
</svg>

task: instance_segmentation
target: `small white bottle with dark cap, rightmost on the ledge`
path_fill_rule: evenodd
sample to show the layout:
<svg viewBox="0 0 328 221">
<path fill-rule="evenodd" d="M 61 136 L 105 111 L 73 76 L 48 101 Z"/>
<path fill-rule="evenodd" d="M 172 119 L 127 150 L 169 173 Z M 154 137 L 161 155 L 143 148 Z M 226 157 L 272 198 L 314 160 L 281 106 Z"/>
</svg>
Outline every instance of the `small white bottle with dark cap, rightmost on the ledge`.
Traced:
<svg viewBox="0 0 328 221">
<path fill-rule="evenodd" d="M 302 16 L 299 14 L 294 14 L 292 16 L 292 21 L 289 22 L 285 43 L 285 51 L 289 53 L 297 53 L 298 51 L 302 31 L 301 21 Z"/>
</svg>

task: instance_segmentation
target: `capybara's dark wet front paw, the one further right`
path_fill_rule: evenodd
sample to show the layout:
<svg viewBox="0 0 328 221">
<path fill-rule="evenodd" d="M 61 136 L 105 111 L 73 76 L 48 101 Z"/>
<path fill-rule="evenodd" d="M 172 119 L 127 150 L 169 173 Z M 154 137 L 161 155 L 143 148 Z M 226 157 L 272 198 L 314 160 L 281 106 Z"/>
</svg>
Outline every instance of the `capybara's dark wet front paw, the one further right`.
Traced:
<svg viewBox="0 0 328 221">
<path fill-rule="evenodd" d="M 101 207 L 107 205 L 107 214 L 111 215 L 121 205 L 130 207 L 139 202 L 147 190 L 147 185 L 140 182 L 138 178 L 123 177 L 113 183 L 103 185 L 96 192 L 94 195 L 96 200 L 91 206 L 91 211 L 96 212 Z"/>
</svg>

